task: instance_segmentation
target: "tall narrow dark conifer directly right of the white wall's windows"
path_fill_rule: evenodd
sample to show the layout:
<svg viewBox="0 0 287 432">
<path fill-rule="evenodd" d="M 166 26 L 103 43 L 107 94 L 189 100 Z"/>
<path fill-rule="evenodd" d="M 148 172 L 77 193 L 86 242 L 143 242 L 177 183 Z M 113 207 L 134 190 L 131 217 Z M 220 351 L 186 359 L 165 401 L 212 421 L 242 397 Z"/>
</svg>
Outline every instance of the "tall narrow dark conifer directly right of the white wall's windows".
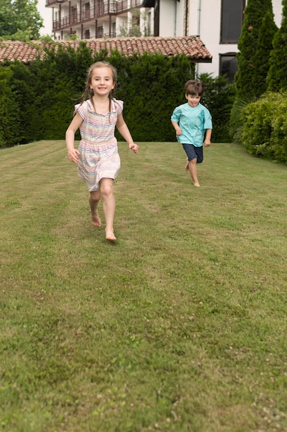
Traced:
<svg viewBox="0 0 287 432">
<path fill-rule="evenodd" d="M 268 24 L 270 29 L 266 31 Z M 235 75 L 237 98 L 248 97 L 251 100 L 261 95 L 262 82 L 269 68 L 270 41 L 275 30 L 272 0 L 248 0 L 238 43 L 238 72 Z M 263 47 L 264 55 L 259 57 L 258 50 L 260 48 L 262 53 Z"/>
</svg>

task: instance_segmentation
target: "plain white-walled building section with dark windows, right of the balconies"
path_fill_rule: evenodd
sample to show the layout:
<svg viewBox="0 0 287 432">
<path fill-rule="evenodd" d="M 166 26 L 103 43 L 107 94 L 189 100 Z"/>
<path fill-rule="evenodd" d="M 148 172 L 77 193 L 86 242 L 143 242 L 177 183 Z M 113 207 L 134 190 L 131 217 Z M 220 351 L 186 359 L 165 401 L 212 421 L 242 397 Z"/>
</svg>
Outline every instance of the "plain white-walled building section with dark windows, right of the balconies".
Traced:
<svg viewBox="0 0 287 432">
<path fill-rule="evenodd" d="M 146 4 L 152 0 L 143 0 Z M 155 0 L 157 1 L 157 0 Z M 281 24 L 281 0 L 273 1 L 275 23 Z M 197 73 L 213 76 L 237 70 L 237 42 L 246 0 L 159 0 L 159 36 L 199 35 L 212 63 L 198 63 Z M 151 3 L 149 3 L 151 4 Z M 155 10 L 157 6 L 155 5 Z"/>
</svg>

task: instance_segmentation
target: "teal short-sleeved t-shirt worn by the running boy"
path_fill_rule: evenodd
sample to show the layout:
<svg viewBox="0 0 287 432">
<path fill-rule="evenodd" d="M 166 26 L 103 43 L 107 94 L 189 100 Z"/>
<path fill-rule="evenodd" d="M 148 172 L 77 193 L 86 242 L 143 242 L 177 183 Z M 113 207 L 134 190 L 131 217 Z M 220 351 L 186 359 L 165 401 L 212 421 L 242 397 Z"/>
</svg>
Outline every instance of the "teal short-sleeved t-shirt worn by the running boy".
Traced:
<svg viewBox="0 0 287 432">
<path fill-rule="evenodd" d="M 195 147 L 204 145 L 206 129 L 212 129 L 212 118 L 208 109 L 201 104 L 192 108 L 188 103 L 177 106 L 172 112 L 172 121 L 177 121 L 182 135 L 177 136 L 181 144 L 193 144 Z"/>
</svg>

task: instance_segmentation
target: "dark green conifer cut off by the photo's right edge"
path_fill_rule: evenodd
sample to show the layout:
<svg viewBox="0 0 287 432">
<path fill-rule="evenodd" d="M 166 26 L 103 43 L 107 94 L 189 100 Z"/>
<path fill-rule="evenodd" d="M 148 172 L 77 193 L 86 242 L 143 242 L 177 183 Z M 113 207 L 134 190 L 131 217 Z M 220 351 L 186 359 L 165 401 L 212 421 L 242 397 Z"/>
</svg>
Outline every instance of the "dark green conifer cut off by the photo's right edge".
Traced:
<svg viewBox="0 0 287 432">
<path fill-rule="evenodd" d="M 287 90 L 287 0 L 282 1 L 281 27 L 273 39 L 273 51 L 270 53 L 270 69 L 268 71 L 268 90 Z"/>
</svg>

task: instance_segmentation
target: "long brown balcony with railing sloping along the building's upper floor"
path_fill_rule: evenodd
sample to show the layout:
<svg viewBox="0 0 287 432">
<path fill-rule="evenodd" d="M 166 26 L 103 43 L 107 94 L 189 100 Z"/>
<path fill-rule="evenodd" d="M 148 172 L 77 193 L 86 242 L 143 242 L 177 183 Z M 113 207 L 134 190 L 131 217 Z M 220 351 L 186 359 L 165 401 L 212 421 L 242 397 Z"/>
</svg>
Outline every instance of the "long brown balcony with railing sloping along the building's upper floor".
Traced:
<svg viewBox="0 0 287 432">
<path fill-rule="evenodd" d="M 46 0 L 46 4 L 49 1 L 53 0 Z M 59 32 L 71 26 L 86 23 L 87 21 L 92 21 L 110 14 L 121 14 L 122 12 L 127 12 L 131 8 L 141 8 L 141 0 L 131 0 L 129 8 L 128 0 L 120 0 L 99 3 L 95 8 L 90 8 L 82 12 L 72 11 L 69 15 L 53 21 L 53 32 Z"/>
</svg>

